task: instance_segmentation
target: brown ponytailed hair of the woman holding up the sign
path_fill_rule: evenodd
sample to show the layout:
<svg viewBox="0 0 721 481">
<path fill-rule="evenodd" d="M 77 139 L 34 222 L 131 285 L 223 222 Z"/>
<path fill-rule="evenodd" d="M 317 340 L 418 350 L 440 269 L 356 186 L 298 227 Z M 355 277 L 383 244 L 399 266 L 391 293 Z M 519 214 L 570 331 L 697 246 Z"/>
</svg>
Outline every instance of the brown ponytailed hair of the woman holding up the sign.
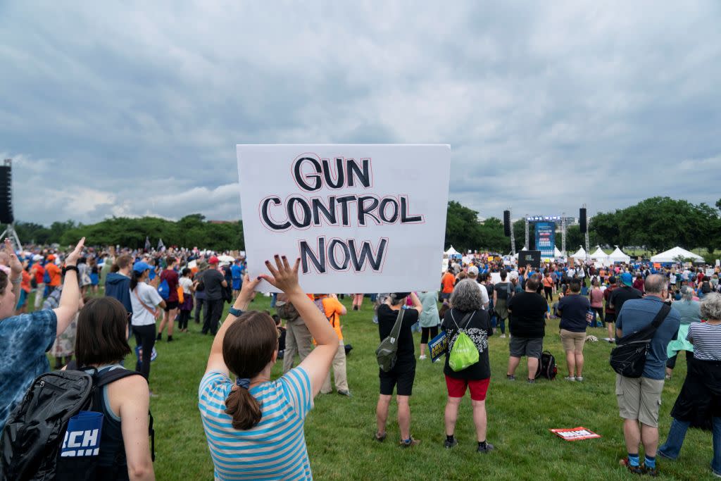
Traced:
<svg viewBox="0 0 721 481">
<path fill-rule="evenodd" d="M 278 329 L 265 312 L 246 312 L 236 320 L 223 338 L 223 360 L 239 378 L 257 376 L 273 359 L 278 349 Z M 260 423 L 260 402 L 243 387 L 233 389 L 226 398 L 226 414 L 236 429 L 250 429 Z"/>
</svg>

